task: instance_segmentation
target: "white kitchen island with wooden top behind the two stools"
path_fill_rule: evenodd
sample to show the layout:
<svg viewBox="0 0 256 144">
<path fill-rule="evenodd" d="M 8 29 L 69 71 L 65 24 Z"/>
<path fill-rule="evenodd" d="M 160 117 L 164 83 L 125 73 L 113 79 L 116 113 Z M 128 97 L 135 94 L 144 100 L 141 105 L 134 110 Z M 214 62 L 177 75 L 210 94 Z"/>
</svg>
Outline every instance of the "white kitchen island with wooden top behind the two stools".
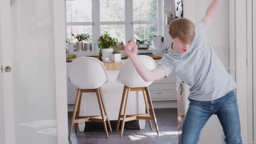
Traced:
<svg viewBox="0 0 256 144">
<path fill-rule="evenodd" d="M 108 111 L 110 121 L 117 121 L 118 113 L 121 104 L 121 97 L 123 94 L 124 85 L 117 82 L 117 76 L 121 65 L 126 60 L 121 62 L 104 62 L 107 70 L 108 82 L 102 86 L 104 101 Z M 67 74 L 69 74 L 69 67 L 72 59 L 67 59 Z M 75 101 L 76 88 L 68 80 L 68 103 L 73 104 Z M 143 99 L 142 92 L 131 92 L 129 102 L 127 104 L 127 114 L 140 114 L 146 113 L 146 107 Z M 83 93 L 82 103 L 80 107 L 80 116 L 100 116 L 100 109 L 98 107 L 96 93 Z M 139 128 L 144 129 L 145 120 L 139 120 Z M 115 125 L 112 125 L 114 127 Z M 79 123 L 79 131 L 84 131 L 85 123 Z"/>
</svg>

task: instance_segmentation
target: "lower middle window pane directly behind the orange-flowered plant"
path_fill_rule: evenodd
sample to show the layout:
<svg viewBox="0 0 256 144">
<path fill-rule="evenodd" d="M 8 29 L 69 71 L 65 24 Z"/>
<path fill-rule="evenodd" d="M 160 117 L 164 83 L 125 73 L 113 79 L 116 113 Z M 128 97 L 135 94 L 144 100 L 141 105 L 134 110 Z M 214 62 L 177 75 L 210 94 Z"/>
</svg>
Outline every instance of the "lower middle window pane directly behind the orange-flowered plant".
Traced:
<svg viewBox="0 0 256 144">
<path fill-rule="evenodd" d="M 117 38 L 119 42 L 125 42 L 125 26 L 124 25 L 102 25 L 101 34 L 108 32 L 111 37 Z"/>
</svg>

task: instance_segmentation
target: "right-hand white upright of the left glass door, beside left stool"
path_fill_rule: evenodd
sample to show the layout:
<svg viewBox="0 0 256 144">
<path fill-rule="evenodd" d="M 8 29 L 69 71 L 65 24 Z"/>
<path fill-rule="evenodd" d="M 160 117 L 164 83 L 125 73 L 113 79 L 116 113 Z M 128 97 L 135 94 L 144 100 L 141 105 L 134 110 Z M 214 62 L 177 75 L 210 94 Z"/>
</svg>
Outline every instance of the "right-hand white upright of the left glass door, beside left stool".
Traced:
<svg viewBox="0 0 256 144">
<path fill-rule="evenodd" d="M 57 143 L 68 143 L 65 1 L 53 0 Z"/>
</svg>

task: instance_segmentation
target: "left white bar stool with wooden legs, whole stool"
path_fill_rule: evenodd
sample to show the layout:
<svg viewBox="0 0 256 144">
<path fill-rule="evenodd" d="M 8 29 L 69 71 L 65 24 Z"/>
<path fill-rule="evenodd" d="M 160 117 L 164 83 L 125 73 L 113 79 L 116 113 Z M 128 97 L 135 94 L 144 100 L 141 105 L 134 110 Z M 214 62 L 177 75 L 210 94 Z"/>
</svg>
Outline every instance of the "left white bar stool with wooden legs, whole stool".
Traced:
<svg viewBox="0 0 256 144">
<path fill-rule="evenodd" d="M 101 86 L 108 81 L 107 72 L 103 63 L 92 57 L 79 57 L 74 59 L 74 61 L 71 63 L 69 80 L 75 87 L 78 88 L 78 90 L 77 97 L 75 98 L 74 111 L 68 138 L 70 139 L 74 123 L 75 133 L 77 133 L 78 123 L 90 121 L 103 123 L 106 137 L 108 138 L 106 119 L 108 122 L 109 130 L 112 131 L 112 128 L 108 119 L 108 113 L 101 91 Z M 96 93 L 101 116 L 79 115 L 82 93 Z"/>
</svg>

